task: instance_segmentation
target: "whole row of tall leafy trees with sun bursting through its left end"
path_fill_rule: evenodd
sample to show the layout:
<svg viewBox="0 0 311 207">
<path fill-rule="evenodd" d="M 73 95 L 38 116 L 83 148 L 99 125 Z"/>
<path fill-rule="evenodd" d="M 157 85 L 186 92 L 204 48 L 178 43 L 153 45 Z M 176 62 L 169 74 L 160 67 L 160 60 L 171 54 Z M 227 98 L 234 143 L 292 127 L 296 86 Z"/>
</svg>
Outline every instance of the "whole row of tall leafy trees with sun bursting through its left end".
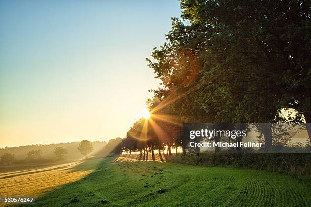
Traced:
<svg viewBox="0 0 311 207">
<path fill-rule="evenodd" d="M 161 81 L 147 101 L 151 118 L 133 124 L 122 150 L 153 155 L 181 146 L 185 153 L 183 122 L 293 122 L 311 139 L 304 124 L 311 122 L 310 2 L 181 0 L 180 6 L 183 20 L 172 18 L 167 41 L 147 58 Z M 269 149 L 272 124 L 263 126 Z"/>
</svg>

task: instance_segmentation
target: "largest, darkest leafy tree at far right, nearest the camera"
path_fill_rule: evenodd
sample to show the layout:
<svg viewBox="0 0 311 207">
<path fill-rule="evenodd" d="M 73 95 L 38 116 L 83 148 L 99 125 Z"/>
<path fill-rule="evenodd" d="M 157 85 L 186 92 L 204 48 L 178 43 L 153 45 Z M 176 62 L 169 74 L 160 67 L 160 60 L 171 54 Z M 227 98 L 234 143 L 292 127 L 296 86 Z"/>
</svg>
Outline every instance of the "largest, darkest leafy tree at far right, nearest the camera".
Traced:
<svg viewBox="0 0 311 207">
<path fill-rule="evenodd" d="M 236 113 L 233 117 L 241 122 L 275 122 L 279 109 L 294 108 L 310 122 L 308 1 L 183 0 L 181 7 L 190 27 L 201 28 L 196 36 L 205 34 L 199 41 L 206 50 L 201 56 L 207 57 L 206 66 L 212 65 L 205 71 L 225 77 L 219 81 L 228 87 L 233 103 L 240 103 L 229 114 Z M 306 129 L 311 137 L 311 128 Z M 271 128 L 264 133 L 269 137 L 265 145 L 271 145 Z"/>
</svg>

